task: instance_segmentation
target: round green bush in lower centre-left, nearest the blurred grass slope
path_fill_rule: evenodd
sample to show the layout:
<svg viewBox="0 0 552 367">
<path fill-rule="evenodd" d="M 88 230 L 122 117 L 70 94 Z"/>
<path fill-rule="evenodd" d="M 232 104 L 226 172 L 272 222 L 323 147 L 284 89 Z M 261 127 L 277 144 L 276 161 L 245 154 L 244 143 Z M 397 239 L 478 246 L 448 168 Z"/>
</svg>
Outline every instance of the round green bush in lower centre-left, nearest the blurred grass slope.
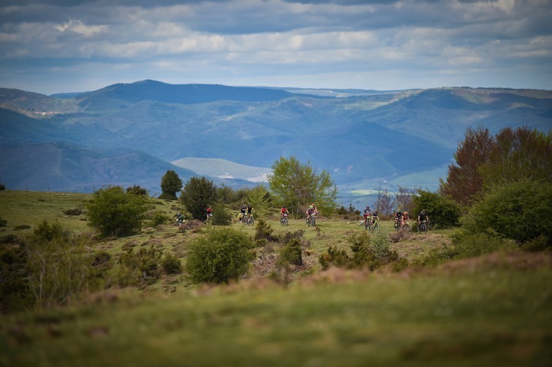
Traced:
<svg viewBox="0 0 552 367">
<path fill-rule="evenodd" d="M 186 272 L 196 282 L 228 282 L 248 270 L 255 244 L 244 232 L 212 228 L 190 244 Z"/>
</svg>

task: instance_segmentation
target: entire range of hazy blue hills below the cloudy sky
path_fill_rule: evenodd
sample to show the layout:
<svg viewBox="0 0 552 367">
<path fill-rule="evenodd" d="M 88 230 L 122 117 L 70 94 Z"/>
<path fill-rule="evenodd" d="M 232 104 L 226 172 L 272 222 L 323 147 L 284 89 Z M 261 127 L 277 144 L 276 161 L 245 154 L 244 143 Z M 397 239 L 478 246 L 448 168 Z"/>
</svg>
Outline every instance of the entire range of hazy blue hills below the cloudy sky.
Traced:
<svg viewBox="0 0 552 367">
<path fill-rule="evenodd" d="M 435 175 L 446 172 L 469 126 L 493 133 L 505 126 L 552 127 L 552 91 L 504 88 L 379 92 L 140 81 L 63 98 L 0 89 L 0 108 L 0 143 L 9 147 L 0 159 L 0 181 L 8 188 L 34 177 L 44 182 L 34 190 L 56 180 L 64 182 L 57 187 L 73 190 L 142 179 L 160 190 L 160 177 L 176 167 L 170 162 L 240 186 L 251 182 L 233 172 L 267 172 L 280 156 L 295 155 L 328 170 L 347 203 L 365 200 L 352 192 L 389 183 L 437 188 Z M 39 165 L 26 163 L 37 154 L 31 143 L 44 149 L 33 161 Z M 112 154 L 115 148 L 132 159 Z M 52 151 L 77 161 L 97 158 L 59 166 Z M 194 159 L 208 166 L 194 166 Z M 51 179 L 41 181 L 37 170 Z"/>
</svg>

